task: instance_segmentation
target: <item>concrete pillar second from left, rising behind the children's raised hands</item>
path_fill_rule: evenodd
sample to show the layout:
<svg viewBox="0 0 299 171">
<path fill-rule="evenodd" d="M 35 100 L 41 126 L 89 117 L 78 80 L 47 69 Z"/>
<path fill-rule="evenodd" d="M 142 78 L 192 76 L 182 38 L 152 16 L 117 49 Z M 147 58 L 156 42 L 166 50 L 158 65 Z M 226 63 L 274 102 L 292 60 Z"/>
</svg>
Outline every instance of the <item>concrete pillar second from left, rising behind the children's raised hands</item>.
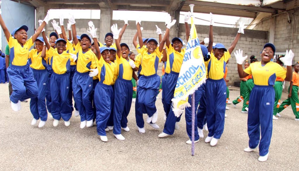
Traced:
<svg viewBox="0 0 299 171">
<path fill-rule="evenodd" d="M 111 32 L 111 23 L 112 23 L 113 10 L 111 8 L 101 7 L 100 13 L 100 37 L 99 41 L 105 43 L 105 35 L 108 32 Z"/>
</svg>

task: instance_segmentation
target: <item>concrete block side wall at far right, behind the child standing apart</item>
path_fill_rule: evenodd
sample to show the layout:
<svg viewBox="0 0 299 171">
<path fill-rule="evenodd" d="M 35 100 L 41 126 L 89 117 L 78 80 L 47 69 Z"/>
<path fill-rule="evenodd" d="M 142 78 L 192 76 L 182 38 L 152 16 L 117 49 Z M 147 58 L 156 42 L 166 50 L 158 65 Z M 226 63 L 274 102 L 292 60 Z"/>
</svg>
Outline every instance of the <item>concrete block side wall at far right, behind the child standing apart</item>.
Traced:
<svg viewBox="0 0 299 171">
<path fill-rule="evenodd" d="M 274 45 L 276 52 L 286 52 L 286 49 L 292 49 L 295 54 L 293 63 L 295 63 L 299 61 L 299 10 L 289 12 L 289 17 L 292 23 L 288 23 L 288 15 L 286 13 L 275 16 Z M 260 22 L 254 29 L 269 31 L 270 20 Z M 289 82 L 286 82 L 284 91 L 287 92 L 288 88 Z"/>
</svg>

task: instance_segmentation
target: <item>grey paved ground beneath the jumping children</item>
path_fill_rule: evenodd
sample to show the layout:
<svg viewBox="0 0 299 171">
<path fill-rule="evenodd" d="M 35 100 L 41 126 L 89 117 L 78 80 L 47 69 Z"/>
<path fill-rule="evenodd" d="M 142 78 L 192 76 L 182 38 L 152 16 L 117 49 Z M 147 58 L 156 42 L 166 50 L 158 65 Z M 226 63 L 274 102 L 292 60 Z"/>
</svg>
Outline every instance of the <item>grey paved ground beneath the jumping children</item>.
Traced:
<svg viewBox="0 0 299 171">
<path fill-rule="evenodd" d="M 54 128 L 53 119 L 48 119 L 44 128 L 31 126 L 32 115 L 29 102 L 22 103 L 22 110 L 10 108 L 8 86 L 0 84 L 0 170 L 294 170 L 299 161 L 299 122 L 291 108 L 282 112 L 282 117 L 273 122 L 269 159 L 257 160 L 258 150 L 243 151 L 248 146 L 247 114 L 228 105 L 225 128 L 216 147 L 210 147 L 203 139 L 191 145 L 185 130 L 184 116 L 180 130 L 173 136 L 159 139 L 164 126 L 161 93 L 156 105 L 159 110 L 159 130 L 145 125 L 146 133 L 140 134 L 135 127 L 134 103 L 129 114 L 129 132 L 123 132 L 124 141 L 117 140 L 112 131 L 108 142 L 102 142 L 96 128 L 80 129 L 80 118 L 72 117 L 71 125 L 63 121 Z M 239 94 L 239 89 L 230 87 L 230 98 Z M 283 93 L 283 100 L 286 93 Z M 144 116 L 146 119 L 146 116 Z M 207 132 L 204 132 L 205 137 Z M 296 169 L 295 169 L 296 170 Z"/>
</svg>

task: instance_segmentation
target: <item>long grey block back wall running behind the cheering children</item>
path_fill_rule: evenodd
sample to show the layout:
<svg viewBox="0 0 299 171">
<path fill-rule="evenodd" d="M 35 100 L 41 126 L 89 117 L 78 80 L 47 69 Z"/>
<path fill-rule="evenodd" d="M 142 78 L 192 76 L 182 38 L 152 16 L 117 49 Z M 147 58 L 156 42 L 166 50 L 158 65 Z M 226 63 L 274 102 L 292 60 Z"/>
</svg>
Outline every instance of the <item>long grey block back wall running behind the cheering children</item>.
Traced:
<svg viewBox="0 0 299 171">
<path fill-rule="evenodd" d="M 56 19 L 59 21 L 59 19 Z M 77 19 L 76 20 L 76 29 L 77 35 L 81 35 L 83 33 L 87 33 L 86 29 L 88 27 L 88 21 L 86 19 Z M 100 20 L 94 19 L 91 20 L 94 22 L 95 27 L 99 28 Z M 65 21 L 66 23 L 66 21 Z M 118 28 L 123 26 L 123 21 L 120 20 L 113 20 L 113 23 L 118 24 Z M 165 30 L 165 25 L 162 22 L 149 22 L 149 21 L 142 21 L 141 27 L 144 27 L 142 31 L 142 36 L 144 38 L 153 37 L 158 40 L 158 35 L 156 34 L 156 27 L 158 25 L 159 28 L 162 29 L 162 32 Z M 47 27 L 48 34 L 50 34 L 54 29 L 48 25 Z M 100 29 L 98 29 L 100 31 Z M 208 37 L 209 33 L 209 26 L 197 25 L 196 26 L 197 34 L 200 40 Z M 213 27 L 213 35 L 214 35 L 214 42 L 215 43 L 223 43 L 227 48 L 231 45 L 232 41 L 234 40 L 235 35 L 237 34 L 237 28 L 228 28 L 228 27 Z M 123 43 L 127 43 L 131 50 L 135 53 L 136 49 L 132 43 L 133 37 L 136 33 L 136 24 L 135 21 L 129 21 L 129 26 L 126 28 L 126 31 L 123 34 L 122 41 Z M 99 33 L 98 33 L 99 35 Z M 186 42 L 186 33 L 185 33 L 185 26 L 184 24 L 179 25 L 179 37 Z M 103 42 L 103 40 L 100 40 Z M 241 35 L 240 40 L 235 48 L 236 49 L 243 49 L 244 53 L 248 56 L 255 55 L 256 57 L 260 57 L 259 54 L 263 48 L 263 45 L 268 42 L 268 32 L 267 31 L 259 31 L 259 30 L 245 30 L 245 34 Z M 233 85 L 234 81 L 239 80 L 239 75 L 237 73 L 237 63 L 234 58 L 234 53 L 231 54 L 230 62 L 228 63 L 228 76 L 227 79 L 230 80 L 229 84 Z M 162 63 L 159 65 L 158 74 L 162 75 L 161 73 Z"/>
</svg>

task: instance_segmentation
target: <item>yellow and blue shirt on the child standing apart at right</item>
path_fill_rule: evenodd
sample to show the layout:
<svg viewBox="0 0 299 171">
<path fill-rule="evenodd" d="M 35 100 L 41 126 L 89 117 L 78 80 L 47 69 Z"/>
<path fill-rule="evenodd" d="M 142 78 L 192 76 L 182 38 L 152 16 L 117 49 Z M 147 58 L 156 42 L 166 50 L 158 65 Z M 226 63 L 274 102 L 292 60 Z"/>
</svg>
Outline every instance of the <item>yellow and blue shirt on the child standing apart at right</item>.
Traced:
<svg viewBox="0 0 299 171">
<path fill-rule="evenodd" d="M 261 62 L 251 63 L 244 69 L 247 74 L 252 74 L 255 85 L 274 85 L 276 77 L 286 78 L 286 70 L 278 63 L 268 62 L 262 66 Z"/>
</svg>

